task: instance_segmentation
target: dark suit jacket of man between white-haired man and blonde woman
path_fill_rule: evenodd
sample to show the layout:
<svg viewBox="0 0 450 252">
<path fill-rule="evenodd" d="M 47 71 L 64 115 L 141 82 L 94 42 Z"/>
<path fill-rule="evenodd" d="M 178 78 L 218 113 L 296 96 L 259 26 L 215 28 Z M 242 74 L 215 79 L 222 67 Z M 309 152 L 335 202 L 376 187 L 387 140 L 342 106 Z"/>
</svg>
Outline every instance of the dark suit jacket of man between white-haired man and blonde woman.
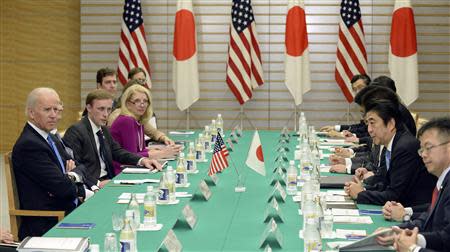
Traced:
<svg viewBox="0 0 450 252">
<path fill-rule="evenodd" d="M 101 128 L 106 145 L 105 164 L 107 177 L 111 179 L 114 177 L 113 160 L 121 164 L 135 165 L 141 157 L 122 149 L 111 137 L 109 129 L 104 126 Z M 88 117 L 85 116 L 79 122 L 70 126 L 64 134 L 63 140 L 64 143 L 72 148 L 75 159 L 86 166 L 86 179 L 96 184 L 100 178 L 100 157 Z"/>
</svg>

